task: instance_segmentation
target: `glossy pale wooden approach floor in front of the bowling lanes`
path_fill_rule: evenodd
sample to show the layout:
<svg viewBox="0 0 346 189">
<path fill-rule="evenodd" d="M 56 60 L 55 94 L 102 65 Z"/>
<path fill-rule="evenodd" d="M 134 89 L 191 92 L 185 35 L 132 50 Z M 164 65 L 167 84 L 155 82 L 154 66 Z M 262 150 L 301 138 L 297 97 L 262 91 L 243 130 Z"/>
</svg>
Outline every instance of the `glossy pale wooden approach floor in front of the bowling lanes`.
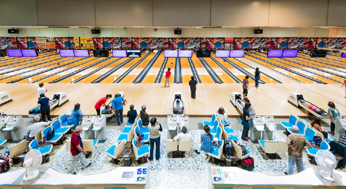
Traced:
<svg viewBox="0 0 346 189">
<path fill-rule="evenodd" d="M 6 88 L 13 97 L 12 102 L 0 107 L 1 111 L 7 115 L 27 116 L 28 111 L 37 106 L 37 87 L 38 83 L 0 83 L 0 88 Z M 199 83 L 196 99 L 193 100 L 187 83 L 172 83 L 170 88 L 163 88 L 157 83 L 45 83 L 45 87 L 48 98 L 61 91 L 65 91 L 70 98 L 65 105 L 51 111 L 54 116 L 69 115 L 76 103 L 81 104 L 83 115 L 95 115 L 95 103 L 106 94 L 117 91 L 124 91 L 126 95 L 124 115 L 129 105 L 133 104 L 138 111 L 140 106 L 146 105 L 149 115 L 166 116 L 172 114 L 174 93 L 179 91 L 182 93 L 185 115 L 211 116 L 222 106 L 230 117 L 239 117 L 238 110 L 229 100 L 231 92 L 242 92 L 241 83 Z M 328 101 L 334 101 L 341 115 L 345 115 L 344 89 L 339 84 L 262 84 L 257 89 L 250 86 L 248 98 L 256 109 L 256 115 L 307 116 L 306 110 L 295 108 L 287 102 L 291 92 L 299 92 L 307 101 L 325 109 Z"/>
</svg>

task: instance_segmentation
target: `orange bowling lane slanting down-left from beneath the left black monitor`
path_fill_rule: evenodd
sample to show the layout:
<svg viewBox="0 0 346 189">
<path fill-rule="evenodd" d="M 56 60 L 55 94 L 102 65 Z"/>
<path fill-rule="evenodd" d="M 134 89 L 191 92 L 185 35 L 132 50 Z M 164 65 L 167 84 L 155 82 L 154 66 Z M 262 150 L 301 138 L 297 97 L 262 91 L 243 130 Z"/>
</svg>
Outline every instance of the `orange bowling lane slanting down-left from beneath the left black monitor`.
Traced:
<svg viewBox="0 0 346 189">
<path fill-rule="evenodd" d="M 88 74 L 88 73 L 90 73 L 90 72 L 92 72 L 92 71 L 94 71 L 94 70 L 96 70 L 96 69 L 98 69 L 98 68 L 100 68 L 102 66 L 105 66 L 106 64 L 112 62 L 113 60 L 116 60 L 116 59 L 115 58 L 110 58 L 110 59 L 98 58 L 96 62 L 98 62 L 98 61 L 102 61 L 102 62 L 100 62 L 100 63 L 98 63 L 98 64 L 96 64 L 96 65 L 94 65 L 94 66 L 92 66 L 92 67 L 90 67 L 90 68 L 88 68 L 86 70 L 83 70 L 83 71 L 81 71 L 79 73 L 76 73 L 76 74 L 74 74 L 74 75 L 72 75 L 70 77 L 67 77 L 67 78 L 59 81 L 58 83 L 70 83 L 70 82 L 73 82 L 74 80 L 79 79 L 80 77 L 83 77 L 86 74 Z M 96 63 L 96 62 L 94 62 L 94 63 Z M 86 65 L 84 67 L 86 67 Z M 73 68 L 73 69 L 71 69 L 71 72 L 77 71 L 79 69 L 81 69 L 81 67 Z"/>
</svg>

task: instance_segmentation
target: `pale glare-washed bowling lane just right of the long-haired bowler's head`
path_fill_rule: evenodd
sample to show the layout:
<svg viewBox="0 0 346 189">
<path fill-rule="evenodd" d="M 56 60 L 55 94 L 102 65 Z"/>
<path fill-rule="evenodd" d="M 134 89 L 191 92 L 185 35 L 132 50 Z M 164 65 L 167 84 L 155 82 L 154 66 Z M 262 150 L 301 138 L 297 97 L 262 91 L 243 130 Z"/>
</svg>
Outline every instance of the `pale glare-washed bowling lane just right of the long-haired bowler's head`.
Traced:
<svg viewBox="0 0 346 189">
<path fill-rule="evenodd" d="M 244 63 L 246 63 L 249 66 L 252 66 L 254 68 L 258 67 L 262 73 L 266 73 L 267 75 L 269 75 L 269 76 L 271 76 L 271 77 L 273 77 L 273 78 L 275 78 L 275 79 L 277 79 L 283 83 L 299 83 L 299 81 L 288 77 L 289 72 L 286 70 L 281 70 L 282 72 L 279 73 L 277 70 L 267 68 L 267 67 L 263 66 L 262 64 L 255 63 L 255 62 L 253 62 L 247 58 L 230 58 L 229 60 L 233 61 L 236 64 L 237 64 L 237 60 L 238 60 L 238 61 L 242 61 L 242 62 L 244 62 Z M 262 78 L 262 75 L 261 75 L 261 78 Z"/>
</svg>

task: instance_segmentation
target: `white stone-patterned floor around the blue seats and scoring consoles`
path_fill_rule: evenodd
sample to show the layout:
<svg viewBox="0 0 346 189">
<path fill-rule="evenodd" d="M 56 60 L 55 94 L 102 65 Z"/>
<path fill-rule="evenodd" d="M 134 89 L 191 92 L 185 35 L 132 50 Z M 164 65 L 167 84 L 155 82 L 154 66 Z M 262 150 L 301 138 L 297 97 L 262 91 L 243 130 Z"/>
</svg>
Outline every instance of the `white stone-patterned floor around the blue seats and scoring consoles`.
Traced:
<svg viewBox="0 0 346 189">
<path fill-rule="evenodd" d="M 200 140 L 203 130 L 190 130 L 190 134 L 193 137 L 191 142 L 191 151 L 185 153 L 184 158 L 170 158 L 167 157 L 165 150 L 165 139 L 167 138 L 167 130 L 164 129 L 161 134 L 160 144 L 160 160 L 144 163 L 140 166 L 150 166 L 149 172 L 149 188 L 181 188 L 181 189 L 206 189 L 208 187 L 208 167 L 215 166 L 209 163 L 204 156 L 197 155 L 194 150 L 197 149 L 197 144 Z M 85 170 L 81 170 L 80 163 L 76 166 L 76 173 L 80 175 L 91 175 L 101 172 L 107 172 L 113 170 L 115 167 L 124 166 L 124 162 L 121 161 L 118 165 L 110 163 L 111 158 L 108 157 L 104 151 L 108 150 L 112 145 L 116 144 L 116 139 L 119 137 L 121 130 L 109 129 L 107 130 L 107 140 L 104 143 L 98 143 L 92 152 L 92 155 L 88 158 L 88 162 L 92 162 L 92 166 Z M 235 130 L 237 137 L 240 139 L 242 130 Z M 250 136 L 250 133 L 249 133 Z M 66 135 L 67 138 L 71 135 Z M 82 133 L 83 137 L 83 133 Z M 282 131 L 274 132 L 275 140 L 286 140 L 282 135 Z M 330 139 L 334 139 L 329 135 Z M 264 153 L 259 144 L 252 143 L 250 141 L 240 141 L 251 153 L 251 157 L 254 158 L 255 169 L 253 172 L 262 173 L 265 175 L 284 175 L 284 171 L 288 170 L 288 155 L 287 153 L 278 152 L 277 155 L 281 159 L 270 159 Z M 0 154 L 8 150 L 13 143 L 5 143 L 0 147 Z M 155 154 L 155 151 L 154 151 Z M 303 153 L 303 162 L 305 167 L 314 167 L 309 163 L 307 153 Z M 43 163 L 41 167 L 51 167 L 59 172 L 67 173 L 71 164 L 71 153 L 66 150 L 66 143 L 60 146 L 54 146 L 49 162 Z M 137 162 L 133 166 L 138 166 Z M 10 171 L 22 169 L 20 165 L 12 165 Z M 296 168 L 294 169 L 297 172 Z M 345 171 L 345 170 L 343 170 Z"/>
</svg>

